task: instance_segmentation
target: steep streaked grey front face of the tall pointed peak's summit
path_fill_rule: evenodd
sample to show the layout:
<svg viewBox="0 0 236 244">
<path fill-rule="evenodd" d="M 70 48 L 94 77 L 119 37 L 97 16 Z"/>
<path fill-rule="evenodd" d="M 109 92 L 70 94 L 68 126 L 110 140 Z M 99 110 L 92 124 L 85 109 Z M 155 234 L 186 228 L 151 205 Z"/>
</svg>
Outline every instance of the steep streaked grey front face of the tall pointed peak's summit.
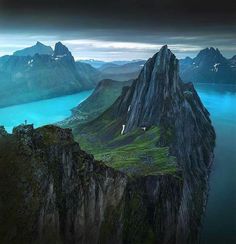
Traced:
<svg viewBox="0 0 236 244">
<path fill-rule="evenodd" d="M 124 132 L 158 124 L 164 106 L 181 96 L 179 63 L 165 45 L 146 62 L 130 89 L 124 91 L 118 112 L 119 116 L 125 116 Z"/>
</svg>

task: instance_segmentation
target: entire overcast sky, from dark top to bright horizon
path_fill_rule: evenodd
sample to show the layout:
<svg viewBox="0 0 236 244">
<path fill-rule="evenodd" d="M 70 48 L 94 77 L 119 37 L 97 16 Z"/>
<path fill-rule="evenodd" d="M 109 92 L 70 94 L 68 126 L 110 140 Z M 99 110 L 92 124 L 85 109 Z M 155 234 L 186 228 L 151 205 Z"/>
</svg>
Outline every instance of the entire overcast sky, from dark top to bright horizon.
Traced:
<svg viewBox="0 0 236 244">
<path fill-rule="evenodd" d="M 76 59 L 177 57 L 205 47 L 236 54 L 236 4 L 224 0 L 0 0 L 0 55 L 62 41 Z"/>
</svg>

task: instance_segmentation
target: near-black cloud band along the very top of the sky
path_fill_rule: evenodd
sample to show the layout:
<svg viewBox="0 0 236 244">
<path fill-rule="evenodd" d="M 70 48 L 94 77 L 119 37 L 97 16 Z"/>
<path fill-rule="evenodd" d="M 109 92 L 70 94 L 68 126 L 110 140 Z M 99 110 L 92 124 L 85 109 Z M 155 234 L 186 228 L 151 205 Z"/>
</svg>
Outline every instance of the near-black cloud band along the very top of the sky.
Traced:
<svg viewBox="0 0 236 244">
<path fill-rule="evenodd" d="M 214 26 L 235 24 L 236 4 L 232 0 L 0 0 L 7 14 L 31 16 L 32 21 L 58 26 L 75 25 L 78 16 L 108 20 L 111 24 L 126 21 L 128 26 Z M 45 20 L 40 17 L 46 17 Z M 14 19 L 14 17 L 12 16 Z M 103 21 L 106 22 L 106 21 Z M 109 25 L 106 23 L 107 25 Z M 92 22 L 91 24 L 97 24 Z"/>
</svg>

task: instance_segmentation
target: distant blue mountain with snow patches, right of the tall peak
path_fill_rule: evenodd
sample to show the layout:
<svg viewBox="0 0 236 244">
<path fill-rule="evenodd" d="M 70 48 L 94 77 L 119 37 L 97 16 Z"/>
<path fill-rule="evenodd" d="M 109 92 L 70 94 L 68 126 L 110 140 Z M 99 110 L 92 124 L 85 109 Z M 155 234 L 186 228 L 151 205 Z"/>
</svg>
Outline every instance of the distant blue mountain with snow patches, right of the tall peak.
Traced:
<svg viewBox="0 0 236 244">
<path fill-rule="evenodd" d="M 236 72 L 218 49 L 206 48 L 191 59 L 180 61 L 180 76 L 186 82 L 235 83 Z"/>
</svg>

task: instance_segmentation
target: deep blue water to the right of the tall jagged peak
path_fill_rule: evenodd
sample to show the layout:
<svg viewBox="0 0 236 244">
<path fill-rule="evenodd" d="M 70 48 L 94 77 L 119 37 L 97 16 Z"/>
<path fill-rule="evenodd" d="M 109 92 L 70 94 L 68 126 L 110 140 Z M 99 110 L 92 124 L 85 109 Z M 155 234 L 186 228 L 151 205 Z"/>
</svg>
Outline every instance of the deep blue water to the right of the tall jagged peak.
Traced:
<svg viewBox="0 0 236 244">
<path fill-rule="evenodd" d="M 198 85 L 216 130 L 202 244 L 236 243 L 236 86 Z"/>
</svg>

